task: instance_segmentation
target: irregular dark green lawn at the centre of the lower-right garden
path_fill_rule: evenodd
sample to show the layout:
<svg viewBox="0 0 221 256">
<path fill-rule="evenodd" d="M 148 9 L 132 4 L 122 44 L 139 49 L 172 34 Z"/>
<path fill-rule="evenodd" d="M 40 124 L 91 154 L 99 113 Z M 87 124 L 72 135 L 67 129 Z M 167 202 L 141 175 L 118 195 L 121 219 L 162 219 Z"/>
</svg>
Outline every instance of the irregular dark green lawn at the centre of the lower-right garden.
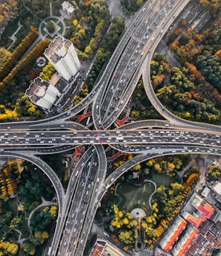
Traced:
<svg viewBox="0 0 221 256">
<path fill-rule="evenodd" d="M 145 182 L 143 185 L 135 186 L 128 183 L 118 185 L 117 193 L 121 196 L 119 208 L 125 211 L 131 211 L 138 205 L 143 205 L 147 211 L 150 211 L 149 198 L 154 191 L 152 183 Z"/>
</svg>

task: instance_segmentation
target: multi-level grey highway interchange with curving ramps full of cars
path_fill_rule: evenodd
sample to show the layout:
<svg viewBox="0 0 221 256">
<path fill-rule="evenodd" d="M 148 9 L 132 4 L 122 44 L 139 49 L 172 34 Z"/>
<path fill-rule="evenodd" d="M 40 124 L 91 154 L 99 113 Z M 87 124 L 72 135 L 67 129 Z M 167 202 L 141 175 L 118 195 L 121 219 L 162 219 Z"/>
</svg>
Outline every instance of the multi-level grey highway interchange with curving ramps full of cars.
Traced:
<svg viewBox="0 0 221 256">
<path fill-rule="evenodd" d="M 48 255 L 83 255 L 96 209 L 112 183 L 135 164 L 158 155 L 176 153 L 220 154 L 220 127 L 184 121 L 164 108 L 154 95 L 150 60 L 155 48 L 189 1 L 147 1 L 127 28 L 106 70 L 81 103 L 53 118 L 0 124 L 1 157 L 36 164 L 51 180 L 59 213 Z M 161 18 L 159 19 L 159 16 Z M 135 121 L 110 129 L 126 108 L 141 75 L 153 106 L 167 121 Z M 95 130 L 68 121 L 92 104 Z M 106 178 L 103 145 L 139 154 Z M 73 170 L 66 191 L 54 170 L 38 156 L 89 145 Z"/>
</svg>

